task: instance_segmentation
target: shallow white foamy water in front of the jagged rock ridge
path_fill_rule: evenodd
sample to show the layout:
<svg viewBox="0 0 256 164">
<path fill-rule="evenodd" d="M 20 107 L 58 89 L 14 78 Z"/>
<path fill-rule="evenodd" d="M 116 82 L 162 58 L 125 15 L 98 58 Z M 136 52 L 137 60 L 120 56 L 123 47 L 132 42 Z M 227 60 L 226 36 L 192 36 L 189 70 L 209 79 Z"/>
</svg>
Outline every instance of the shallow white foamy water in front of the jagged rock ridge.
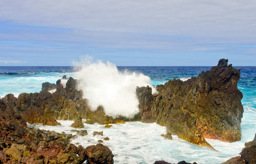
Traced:
<svg viewBox="0 0 256 164">
<path fill-rule="evenodd" d="M 172 140 L 160 136 L 165 134 L 165 127 L 156 123 L 148 124 L 143 122 L 126 122 L 126 124 L 113 124 L 106 128 L 99 124 L 84 124 L 84 128 L 74 128 L 71 124 L 74 121 L 59 120 L 61 126 L 30 125 L 44 130 L 71 133 L 71 130 L 87 130 L 87 136 L 78 136 L 71 140 L 75 145 L 88 147 L 95 145 L 98 140 L 104 140 L 104 145 L 110 148 L 114 154 L 115 163 L 154 163 L 157 160 L 165 160 L 177 163 L 185 160 L 197 163 L 221 163 L 233 156 L 237 156 L 244 142 L 227 143 L 220 140 L 207 139 L 207 141 L 218 151 L 210 148 L 202 148 L 173 136 Z M 103 131 L 103 136 L 93 137 L 93 131 Z"/>
</svg>

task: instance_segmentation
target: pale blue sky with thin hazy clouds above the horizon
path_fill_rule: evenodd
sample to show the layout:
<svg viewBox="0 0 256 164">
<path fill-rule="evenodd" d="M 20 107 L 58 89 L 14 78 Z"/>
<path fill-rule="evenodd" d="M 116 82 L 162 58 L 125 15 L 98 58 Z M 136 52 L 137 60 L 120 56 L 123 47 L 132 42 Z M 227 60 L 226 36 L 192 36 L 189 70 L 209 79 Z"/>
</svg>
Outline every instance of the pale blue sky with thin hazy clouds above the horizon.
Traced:
<svg viewBox="0 0 256 164">
<path fill-rule="evenodd" d="M 0 66 L 256 66 L 255 0 L 0 0 Z"/>
</svg>

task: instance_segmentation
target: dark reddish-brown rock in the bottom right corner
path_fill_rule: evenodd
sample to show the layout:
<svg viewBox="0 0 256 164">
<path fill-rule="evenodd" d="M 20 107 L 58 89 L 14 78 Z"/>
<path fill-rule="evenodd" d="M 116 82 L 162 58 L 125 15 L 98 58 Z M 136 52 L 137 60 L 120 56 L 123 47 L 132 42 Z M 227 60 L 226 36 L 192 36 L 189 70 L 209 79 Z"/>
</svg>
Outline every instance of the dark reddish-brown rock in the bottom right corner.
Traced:
<svg viewBox="0 0 256 164">
<path fill-rule="evenodd" d="M 254 136 L 254 139 L 250 142 L 247 142 L 244 144 L 244 148 L 240 153 L 241 156 L 233 157 L 230 160 L 227 160 L 226 162 L 222 164 L 231 164 L 231 163 L 237 163 L 237 164 L 244 164 L 244 163 L 256 163 L 256 134 Z"/>
</svg>

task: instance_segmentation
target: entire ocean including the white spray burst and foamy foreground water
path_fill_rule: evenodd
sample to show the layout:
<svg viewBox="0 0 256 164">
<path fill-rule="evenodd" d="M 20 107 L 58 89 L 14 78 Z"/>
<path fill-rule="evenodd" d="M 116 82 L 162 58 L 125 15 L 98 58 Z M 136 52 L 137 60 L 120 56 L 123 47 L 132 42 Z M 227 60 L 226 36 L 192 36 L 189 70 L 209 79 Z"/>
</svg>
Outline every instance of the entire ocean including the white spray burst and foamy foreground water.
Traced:
<svg viewBox="0 0 256 164">
<path fill-rule="evenodd" d="M 116 67 L 112 63 L 91 63 L 90 67 L 0 67 L 0 97 L 13 93 L 18 97 L 20 93 L 40 92 L 42 83 L 55 83 L 63 75 L 81 79 L 79 86 L 87 97 L 95 97 L 99 102 L 89 99 L 92 107 L 103 104 L 109 115 L 132 114 L 137 112 L 134 92 L 136 86 L 151 85 L 153 87 L 164 84 L 174 78 L 187 80 L 197 77 L 202 71 L 212 67 Z M 253 140 L 256 133 L 256 67 L 235 67 L 241 69 L 238 89 L 243 93 L 242 104 L 244 113 L 242 118 L 242 139 L 238 142 L 227 143 L 220 140 L 207 139 L 216 150 L 202 148 L 173 136 L 168 140 L 160 136 L 165 134 L 165 127 L 156 123 L 126 122 L 105 128 L 99 124 L 85 124 L 88 135 L 77 137 L 72 143 L 83 147 L 97 144 L 97 140 L 104 140 L 114 154 L 115 163 L 154 163 L 164 160 L 170 163 L 186 162 L 221 163 L 238 156 L 244 143 Z M 99 92 L 98 88 L 103 92 Z M 102 97 L 97 95 L 100 94 Z M 134 94 L 133 94 L 134 93 Z M 131 98 L 133 97 L 133 98 Z M 127 106 L 130 104 L 131 106 Z M 113 106 L 114 104 L 114 106 Z M 118 106 L 116 108 L 116 106 Z M 121 106 L 125 106 L 124 108 Z M 126 107 L 127 106 L 127 107 Z M 61 126 L 29 125 L 45 130 L 72 133 L 73 121 L 59 120 Z M 93 131 L 103 131 L 103 136 L 93 137 Z"/>
</svg>

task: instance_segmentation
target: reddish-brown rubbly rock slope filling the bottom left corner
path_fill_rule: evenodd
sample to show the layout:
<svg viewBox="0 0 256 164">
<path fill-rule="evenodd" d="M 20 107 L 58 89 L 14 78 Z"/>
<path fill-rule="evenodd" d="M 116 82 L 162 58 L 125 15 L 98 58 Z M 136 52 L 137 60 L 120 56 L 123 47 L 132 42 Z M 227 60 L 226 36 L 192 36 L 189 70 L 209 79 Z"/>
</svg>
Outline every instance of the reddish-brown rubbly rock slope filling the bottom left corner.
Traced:
<svg viewBox="0 0 256 164">
<path fill-rule="evenodd" d="M 3 163 L 82 163 L 66 151 L 65 134 L 27 128 L 26 122 L 0 100 L 0 159 Z M 46 161 L 46 162 L 45 162 Z"/>
</svg>

